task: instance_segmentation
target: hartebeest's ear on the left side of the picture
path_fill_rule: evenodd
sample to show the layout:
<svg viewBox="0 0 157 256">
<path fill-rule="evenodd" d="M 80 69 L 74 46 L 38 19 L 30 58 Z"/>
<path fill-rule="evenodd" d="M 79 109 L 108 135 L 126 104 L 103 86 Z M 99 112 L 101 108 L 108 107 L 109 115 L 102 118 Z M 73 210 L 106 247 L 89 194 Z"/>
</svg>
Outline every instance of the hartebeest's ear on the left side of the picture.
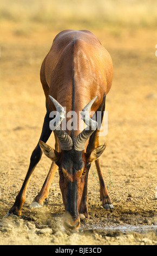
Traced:
<svg viewBox="0 0 157 256">
<path fill-rule="evenodd" d="M 43 153 L 49 157 L 49 159 L 51 159 L 54 162 L 57 162 L 60 158 L 60 153 L 58 153 L 55 149 L 52 149 L 49 145 L 45 144 L 42 141 L 39 141 L 41 150 L 43 151 Z"/>
</svg>

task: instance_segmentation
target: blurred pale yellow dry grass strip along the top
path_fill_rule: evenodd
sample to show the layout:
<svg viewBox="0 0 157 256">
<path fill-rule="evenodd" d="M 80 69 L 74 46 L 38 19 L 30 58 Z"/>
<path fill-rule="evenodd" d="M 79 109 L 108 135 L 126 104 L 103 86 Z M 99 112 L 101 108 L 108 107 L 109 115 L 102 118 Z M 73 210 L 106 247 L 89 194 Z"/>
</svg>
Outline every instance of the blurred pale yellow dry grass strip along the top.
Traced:
<svg viewBox="0 0 157 256">
<path fill-rule="evenodd" d="M 155 0 L 5 0 L 0 20 L 49 23 L 57 28 L 63 24 L 152 27 L 157 24 L 156 7 Z"/>
</svg>

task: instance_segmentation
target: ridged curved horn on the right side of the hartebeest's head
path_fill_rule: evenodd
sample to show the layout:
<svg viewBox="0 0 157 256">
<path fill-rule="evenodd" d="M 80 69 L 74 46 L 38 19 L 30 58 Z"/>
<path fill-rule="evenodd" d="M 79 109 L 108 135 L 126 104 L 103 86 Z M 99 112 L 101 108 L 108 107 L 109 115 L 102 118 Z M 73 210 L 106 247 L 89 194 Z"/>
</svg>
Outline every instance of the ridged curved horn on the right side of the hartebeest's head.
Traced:
<svg viewBox="0 0 157 256">
<path fill-rule="evenodd" d="M 97 96 L 96 96 L 97 97 Z M 77 151 L 82 151 L 84 149 L 84 146 L 87 142 L 87 139 L 90 137 L 90 135 L 96 130 L 97 128 L 97 121 L 94 121 L 93 119 L 90 118 L 89 116 L 89 110 L 91 106 L 93 105 L 94 101 L 96 100 L 96 97 L 92 99 L 86 107 L 82 109 L 81 115 L 82 115 L 82 120 L 84 123 L 87 125 L 87 127 L 77 135 L 74 141 L 74 148 Z"/>
</svg>

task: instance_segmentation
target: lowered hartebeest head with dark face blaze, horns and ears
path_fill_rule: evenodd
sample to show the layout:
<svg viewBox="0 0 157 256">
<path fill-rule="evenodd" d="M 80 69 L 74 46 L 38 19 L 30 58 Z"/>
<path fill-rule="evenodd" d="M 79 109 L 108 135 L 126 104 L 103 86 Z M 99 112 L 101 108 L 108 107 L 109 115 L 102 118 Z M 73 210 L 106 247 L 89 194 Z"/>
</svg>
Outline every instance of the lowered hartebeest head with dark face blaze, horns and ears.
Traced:
<svg viewBox="0 0 157 256">
<path fill-rule="evenodd" d="M 62 150 L 61 152 L 57 152 L 42 141 L 40 141 L 40 147 L 44 154 L 58 166 L 60 188 L 66 211 L 64 214 L 63 225 L 65 228 L 77 229 L 80 226 L 78 209 L 81 202 L 84 178 L 86 176 L 88 165 L 101 156 L 106 148 L 106 144 L 87 153 L 84 152 L 87 140 L 97 129 L 97 122 L 91 119 L 88 113 L 96 97 L 82 109 L 82 119 L 88 127 L 78 134 L 74 141 L 65 131 L 57 129 L 64 118 L 65 112 L 60 103 L 50 95 L 49 97 L 53 101 L 57 111 L 56 117 L 50 121 L 50 128 L 54 127 L 54 123 L 56 122 L 54 133 L 60 140 Z"/>
</svg>

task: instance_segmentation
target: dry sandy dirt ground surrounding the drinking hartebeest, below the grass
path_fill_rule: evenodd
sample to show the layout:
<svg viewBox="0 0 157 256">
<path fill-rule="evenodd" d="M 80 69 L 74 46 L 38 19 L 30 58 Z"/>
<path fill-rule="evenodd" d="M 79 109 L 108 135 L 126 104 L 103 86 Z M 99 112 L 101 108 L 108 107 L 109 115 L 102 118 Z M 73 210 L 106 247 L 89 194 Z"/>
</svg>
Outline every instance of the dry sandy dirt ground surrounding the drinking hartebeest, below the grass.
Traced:
<svg viewBox="0 0 157 256">
<path fill-rule="evenodd" d="M 107 148 L 100 159 L 114 210 L 102 208 L 95 164 L 88 182 L 90 219 L 77 231 L 64 230 L 64 207 L 56 173 L 43 208 L 29 208 L 47 176 L 44 155 L 30 180 L 21 217 L 3 219 L 21 188 L 40 137 L 45 100 L 40 66 L 59 32 L 41 26 L 19 33 L 2 24 L 0 245 L 155 245 L 156 234 L 156 65 L 153 29 L 92 31 L 113 58 L 114 80 L 107 95 Z M 42 36 L 41 36 L 42 35 Z M 156 40 L 156 41 L 155 41 Z M 54 138 L 48 141 L 54 145 Z"/>
</svg>

